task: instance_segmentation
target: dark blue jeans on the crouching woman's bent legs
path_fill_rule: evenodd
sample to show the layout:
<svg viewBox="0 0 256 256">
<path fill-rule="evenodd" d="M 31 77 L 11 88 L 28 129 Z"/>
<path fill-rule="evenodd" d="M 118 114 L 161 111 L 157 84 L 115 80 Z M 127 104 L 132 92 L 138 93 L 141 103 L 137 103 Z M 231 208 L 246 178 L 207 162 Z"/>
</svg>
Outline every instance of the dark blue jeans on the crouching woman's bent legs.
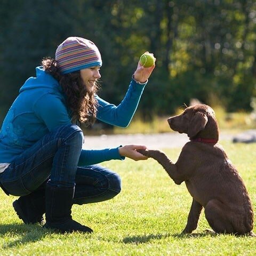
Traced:
<svg viewBox="0 0 256 256">
<path fill-rule="evenodd" d="M 47 181 L 52 186 L 75 186 L 75 204 L 113 198 L 121 191 L 121 179 L 100 165 L 78 167 L 82 145 L 83 132 L 77 125 L 59 126 L 0 174 L 3 189 L 14 196 L 25 196 Z"/>
</svg>

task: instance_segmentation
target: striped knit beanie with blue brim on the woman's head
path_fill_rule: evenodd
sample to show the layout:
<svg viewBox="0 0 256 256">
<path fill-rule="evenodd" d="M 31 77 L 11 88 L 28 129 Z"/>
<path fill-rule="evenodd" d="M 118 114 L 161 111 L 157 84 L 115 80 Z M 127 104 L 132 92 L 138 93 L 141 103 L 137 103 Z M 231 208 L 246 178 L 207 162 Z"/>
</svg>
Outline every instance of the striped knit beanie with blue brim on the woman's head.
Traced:
<svg viewBox="0 0 256 256">
<path fill-rule="evenodd" d="M 102 65 L 97 46 L 81 37 L 68 37 L 63 41 L 55 52 L 55 60 L 62 75 Z"/>
</svg>

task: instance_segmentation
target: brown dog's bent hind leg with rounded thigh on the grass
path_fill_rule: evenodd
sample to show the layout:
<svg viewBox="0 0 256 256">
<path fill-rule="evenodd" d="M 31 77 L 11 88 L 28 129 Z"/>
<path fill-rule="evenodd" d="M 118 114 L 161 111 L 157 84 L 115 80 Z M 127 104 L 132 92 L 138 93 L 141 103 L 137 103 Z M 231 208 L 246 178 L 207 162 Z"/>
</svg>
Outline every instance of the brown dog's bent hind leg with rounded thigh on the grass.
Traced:
<svg viewBox="0 0 256 256">
<path fill-rule="evenodd" d="M 205 218 L 216 233 L 234 234 L 236 230 L 231 223 L 231 211 L 225 204 L 217 199 L 212 199 L 205 206 Z"/>
</svg>

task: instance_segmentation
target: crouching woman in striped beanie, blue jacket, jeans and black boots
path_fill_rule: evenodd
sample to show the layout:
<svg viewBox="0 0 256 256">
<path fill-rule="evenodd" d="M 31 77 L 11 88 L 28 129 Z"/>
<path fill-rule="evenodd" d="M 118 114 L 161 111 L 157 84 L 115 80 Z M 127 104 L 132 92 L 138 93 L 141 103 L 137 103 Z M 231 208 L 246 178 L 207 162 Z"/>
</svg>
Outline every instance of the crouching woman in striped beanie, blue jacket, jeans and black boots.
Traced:
<svg viewBox="0 0 256 256">
<path fill-rule="evenodd" d="M 82 149 L 83 132 L 77 124 L 90 125 L 97 118 L 129 125 L 155 67 L 138 64 L 123 101 L 115 106 L 97 95 L 101 65 L 93 42 L 67 38 L 55 60 L 44 59 L 36 77 L 27 79 L 4 119 L 0 184 L 6 194 L 20 196 L 13 207 L 25 223 L 41 223 L 45 213 L 45 228 L 92 232 L 71 218 L 72 205 L 105 201 L 121 191 L 119 176 L 96 164 L 147 159 L 136 151 L 145 146 Z"/>
</svg>

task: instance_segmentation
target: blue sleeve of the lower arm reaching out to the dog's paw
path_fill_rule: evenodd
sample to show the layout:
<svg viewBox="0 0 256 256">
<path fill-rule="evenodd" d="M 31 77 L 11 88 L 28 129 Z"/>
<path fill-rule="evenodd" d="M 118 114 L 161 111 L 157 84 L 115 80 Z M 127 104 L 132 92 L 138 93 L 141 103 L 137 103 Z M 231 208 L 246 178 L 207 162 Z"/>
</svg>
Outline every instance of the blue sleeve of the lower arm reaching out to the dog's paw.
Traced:
<svg viewBox="0 0 256 256">
<path fill-rule="evenodd" d="M 120 156 L 119 147 L 106 148 L 99 150 L 86 150 L 82 149 L 79 157 L 78 166 L 86 166 L 91 164 L 98 164 L 109 160 L 119 159 L 124 160 L 125 157 Z"/>
</svg>

